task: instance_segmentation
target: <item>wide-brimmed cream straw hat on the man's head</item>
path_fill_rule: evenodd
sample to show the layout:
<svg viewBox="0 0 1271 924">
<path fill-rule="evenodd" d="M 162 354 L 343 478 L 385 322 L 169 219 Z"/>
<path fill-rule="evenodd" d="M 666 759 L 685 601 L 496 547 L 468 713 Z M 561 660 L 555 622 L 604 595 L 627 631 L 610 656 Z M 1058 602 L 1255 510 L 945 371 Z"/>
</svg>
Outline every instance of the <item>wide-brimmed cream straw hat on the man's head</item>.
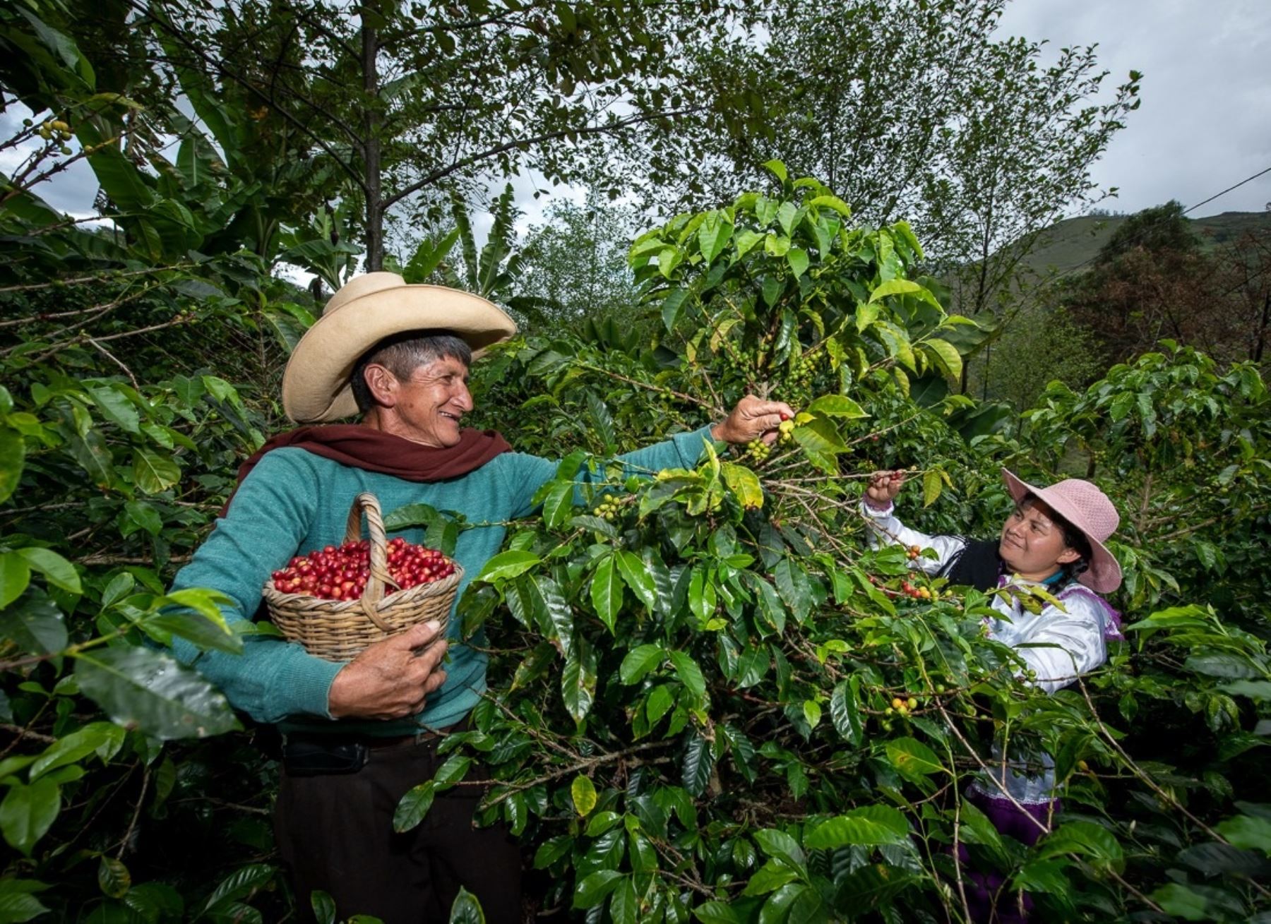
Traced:
<svg viewBox="0 0 1271 924">
<path fill-rule="evenodd" d="M 282 374 L 282 409 L 296 423 L 357 413 L 348 380 L 362 353 L 403 330 L 449 330 L 475 360 L 516 333 L 502 309 L 445 286 L 407 285 L 397 273 L 364 273 L 330 296 L 322 318 L 300 338 Z"/>
</svg>

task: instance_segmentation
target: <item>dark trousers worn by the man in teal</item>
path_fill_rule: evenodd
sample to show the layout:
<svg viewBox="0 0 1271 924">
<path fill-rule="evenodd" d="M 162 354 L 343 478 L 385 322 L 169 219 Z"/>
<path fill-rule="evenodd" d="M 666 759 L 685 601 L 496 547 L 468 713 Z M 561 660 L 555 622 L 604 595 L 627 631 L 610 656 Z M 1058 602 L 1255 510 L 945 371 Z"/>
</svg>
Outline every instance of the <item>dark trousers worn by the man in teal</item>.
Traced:
<svg viewBox="0 0 1271 924">
<path fill-rule="evenodd" d="M 438 793 L 418 827 L 393 831 L 398 801 L 441 763 L 431 738 L 372 749 L 357 773 L 283 770 L 273 824 L 300 920 L 313 920 L 310 893 L 322 890 L 334 899 L 337 920 L 367 914 L 384 924 L 447 921 L 463 886 L 489 924 L 520 921 L 520 848 L 502 825 L 473 825 L 484 787 Z"/>
</svg>

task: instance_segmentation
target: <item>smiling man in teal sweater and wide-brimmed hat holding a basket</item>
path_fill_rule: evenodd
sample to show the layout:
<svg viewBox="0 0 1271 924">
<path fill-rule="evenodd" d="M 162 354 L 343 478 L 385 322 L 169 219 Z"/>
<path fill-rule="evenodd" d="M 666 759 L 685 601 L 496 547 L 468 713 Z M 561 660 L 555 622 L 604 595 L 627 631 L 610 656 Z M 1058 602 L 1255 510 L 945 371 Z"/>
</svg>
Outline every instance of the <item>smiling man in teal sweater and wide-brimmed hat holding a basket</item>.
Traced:
<svg viewBox="0 0 1271 924">
<path fill-rule="evenodd" d="M 301 428 L 262 447 L 175 586 L 224 591 L 235 601 L 226 619 L 249 618 L 272 571 L 341 541 L 350 503 L 364 491 L 385 512 L 428 503 L 489 524 L 460 534 L 454 558 L 465 585 L 502 545 L 500 524 L 531 513 L 535 491 L 555 472 L 554 463 L 512 452 L 493 431 L 461 427 L 473 409 L 468 367 L 515 332 L 475 295 L 383 272 L 347 283 L 296 344 L 282 405 L 299 423 L 357 412 L 361 423 Z M 704 440 L 770 441 L 783 416 L 793 416 L 787 404 L 747 397 L 722 423 L 622 460 L 644 472 L 693 466 Z M 418 531 L 407 539 L 418 541 Z M 451 634 L 458 625 L 450 620 Z M 506 830 L 473 827 L 475 787 L 438 794 L 419 827 L 393 831 L 400 797 L 440 763 L 436 732 L 463 722 L 486 689 L 480 652 L 451 643 L 442 669 L 447 643 L 428 644 L 437 628 L 417 625 L 348 663 L 277 638 L 248 637 L 240 656 L 174 643 L 236 708 L 283 733 L 275 830 L 302 918 L 322 890 L 341 918 L 446 920 L 464 886 L 487 920 L 520 919 L 520 852 Z"/>
</svg>

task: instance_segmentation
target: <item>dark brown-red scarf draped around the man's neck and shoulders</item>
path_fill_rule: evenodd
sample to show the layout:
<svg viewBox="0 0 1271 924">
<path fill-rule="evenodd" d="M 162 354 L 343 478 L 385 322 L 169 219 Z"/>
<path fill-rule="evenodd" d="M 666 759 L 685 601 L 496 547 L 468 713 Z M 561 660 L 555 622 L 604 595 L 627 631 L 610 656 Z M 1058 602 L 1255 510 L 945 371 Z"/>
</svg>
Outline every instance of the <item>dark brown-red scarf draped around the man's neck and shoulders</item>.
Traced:
<svg viewBox="0 0 1271 924">
<path fill-rule="evenodd" d="M 238 484 L 255 468 L 269 450 L 297 446 L 341 465 L 379 472 L 407 482 L 444 482 L 479 469 L 497 455 L 511 452 L 512 447 L 497 430 L 459 431 L 459 442 L 445 449 L 422 446 L 418 442 L 374 430 L 361 423 L 333 423 L 323 427 L 299 427 L 278 433 L 258 449 L 239 466 Z M 235 486 L 234 491 L 238 491 Z M 234 494 L 221 507 L 221 516 L 230 508 Z"/>
</svg>

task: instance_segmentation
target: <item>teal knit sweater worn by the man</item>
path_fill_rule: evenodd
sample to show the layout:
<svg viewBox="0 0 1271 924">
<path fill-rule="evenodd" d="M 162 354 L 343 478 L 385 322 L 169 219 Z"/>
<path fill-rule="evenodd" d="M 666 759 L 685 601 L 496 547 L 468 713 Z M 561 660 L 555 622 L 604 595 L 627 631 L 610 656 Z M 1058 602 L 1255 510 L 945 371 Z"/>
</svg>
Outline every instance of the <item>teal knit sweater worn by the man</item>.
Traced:
<svg viewBox="0 0 1271 924">
<path fill-rule="evenodd" d="M 628 452 L 620 460 L 636 473 L 691 468 L 702 455 L 703 441 L 709 438 L 709 427 L 703 427 Z M 469 524 L 478 524 L 461 531 L 455 547 L 454 557 L 464 568 L 461 596 L 503 544 L 506 527 L 500 524 L 533 512 L 534 492 L 553 478 L 555 468 L 547 459 L 505 452 L 461 478 L 421 484 L 341 465 L 302 449 L 276 449 L 243 480 L 229 512 L 178 572 L 173 588 L 219 590 L 234 601 L 224 609 L 228 622 L 250 619 L 271 572 L 285 567 L 292 555 L 342 543 L 353 497 L 369 491 L 385 513 L 408 503 L 428 503 L 458 511 Z M 412 543 L 423 540 L 419 529 L 395 535 Z M 428 696 L 419 716 L 397 722 L 332 721 L 328 693 L 343 665 L 314 657 L 296 643 L 248 635 L 241 655 L 200 652 L 180 639 L 174 641 L 173 649 L 182 662 L 194 665 L 220 686 L 235 708 L 258 722 L 280 724 L 283 731 L 405 735 L 418 731 L 419 723 L 444 728 L 459 722 L 486 689 L 487 656 L 455 642 L 458 633 L 459 620 L 451 618 L 445 685 Z"/>
</svg>

